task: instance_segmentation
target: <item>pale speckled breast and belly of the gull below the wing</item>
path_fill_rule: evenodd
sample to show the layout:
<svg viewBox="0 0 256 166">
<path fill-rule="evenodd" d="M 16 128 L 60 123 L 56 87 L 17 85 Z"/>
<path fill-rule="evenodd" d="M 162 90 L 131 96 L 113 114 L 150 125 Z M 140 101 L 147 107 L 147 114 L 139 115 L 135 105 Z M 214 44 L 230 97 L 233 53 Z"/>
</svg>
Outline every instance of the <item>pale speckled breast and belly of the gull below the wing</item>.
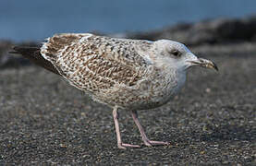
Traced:
<svg viewBox="0 0 256 166">
<path fill-rule="evenodd" d="M 124 109 L 152 109 L 171 101 L 172 97 L 183 87 L 185 81 L 186 73 L 177 71 L 165 73 L 152 70 L 136 86 L 116 86 L 115 89 L 107 93 L 108 96 L 104 96 L 104 99 L 107 99 L 105 102 L 108 104 L 116 104 Z M 111 94 L 115 94 L 115 96 Z"/>
</svg>

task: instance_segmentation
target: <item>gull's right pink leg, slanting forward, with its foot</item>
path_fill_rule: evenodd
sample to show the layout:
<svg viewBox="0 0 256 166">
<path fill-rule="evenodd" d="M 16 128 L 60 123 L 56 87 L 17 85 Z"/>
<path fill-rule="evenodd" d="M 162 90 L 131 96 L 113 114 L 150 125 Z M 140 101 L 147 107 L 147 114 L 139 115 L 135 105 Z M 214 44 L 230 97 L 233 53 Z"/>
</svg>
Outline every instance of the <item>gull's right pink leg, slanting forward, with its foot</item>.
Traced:
<svg viewBox="0 0 256 166">
<path fill-rule="evenodd" d="M 169 143 L 168 142 L 163 142 L 163 141 L 153 141 L 153 140 L 150 140 L 146 134 L 145 134 L 145 131 L 143 129 L 143 127 L 140 125 L 140 121 L 138 119 L 138 113 L 137 111 L 132 111 L 132 118 L 133 118 L 133 121 L 135 122 L 135 124 L 138 126 L 139 128 L 139 131 L 140 131 L 140 136 L 142 137 L 142 140 L 144 142 L 144 144 L 146 146 L 152 146 L 152 145 L 168 145 Z"/>
</svg>

